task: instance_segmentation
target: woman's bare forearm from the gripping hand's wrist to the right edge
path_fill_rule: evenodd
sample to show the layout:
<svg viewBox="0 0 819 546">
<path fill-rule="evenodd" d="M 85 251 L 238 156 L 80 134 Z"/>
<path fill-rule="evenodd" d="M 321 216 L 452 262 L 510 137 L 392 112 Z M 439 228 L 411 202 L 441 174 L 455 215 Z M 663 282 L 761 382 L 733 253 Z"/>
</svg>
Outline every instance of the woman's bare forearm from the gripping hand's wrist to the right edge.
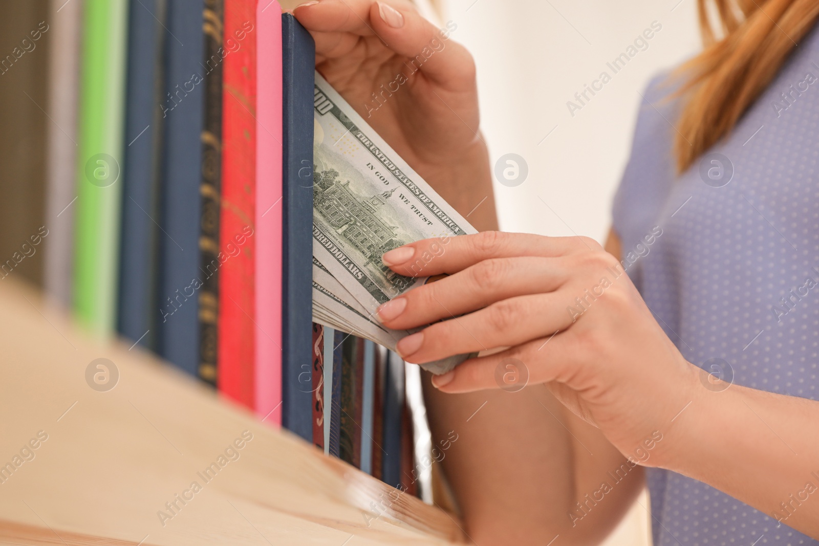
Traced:
<svg viewBox="0 0 819 546">
<path fill-rule="evenodd" d="M 819 402 L 696 371 L 691 382 L 690 406 L 667 427 L 654 463 L 819 539 Z"/>
</svg>

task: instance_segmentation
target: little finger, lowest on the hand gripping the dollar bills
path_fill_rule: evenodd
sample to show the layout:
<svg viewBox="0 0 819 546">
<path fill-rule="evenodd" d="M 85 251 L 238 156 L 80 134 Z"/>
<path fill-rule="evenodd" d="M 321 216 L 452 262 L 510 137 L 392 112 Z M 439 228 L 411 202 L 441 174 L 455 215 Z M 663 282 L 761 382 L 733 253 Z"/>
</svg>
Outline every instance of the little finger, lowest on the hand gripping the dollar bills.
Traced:
<svg viewBox="0 0 819 546">
<path fill-rule="evenodd" d="M 468 359 L 450 372 L 432 377 L 432 385 L 447 393 L 505 389 L 560 381 L 565 370 L 577 366 L 580 348 L 568 332 L 544 337 L 500 353 Z"/>
</svg>

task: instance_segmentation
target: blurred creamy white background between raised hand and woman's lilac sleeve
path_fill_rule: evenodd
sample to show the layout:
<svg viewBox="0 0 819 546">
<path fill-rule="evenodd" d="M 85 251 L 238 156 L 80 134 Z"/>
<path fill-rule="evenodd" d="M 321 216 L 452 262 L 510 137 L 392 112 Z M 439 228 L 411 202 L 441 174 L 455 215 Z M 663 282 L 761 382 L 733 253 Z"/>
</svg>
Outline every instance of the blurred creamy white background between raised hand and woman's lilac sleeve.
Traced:
<svg viewBox="0 0 819 546">
<path fill-rule="evenodd" d="M 452 38 L 477 62 L 492 160 L 512 152 L 529 167 L 520 186 L 495 184 L 501 227 L 577 232 L 602 242 L 631 149 L 638 92 L 654 74 L 699 50 L 695 0 L 440 2 L 442 22 L 458 25 Z M 662 29 L 646 40 L 645 51 L 613 74 L 606 63 L 654 21 Z M 572 116 L 566 103 L 579 105 L 574 94 L 603 70 L 611 81 L 595 96 L 586 93 L 590 100 Z"/>
</svg>

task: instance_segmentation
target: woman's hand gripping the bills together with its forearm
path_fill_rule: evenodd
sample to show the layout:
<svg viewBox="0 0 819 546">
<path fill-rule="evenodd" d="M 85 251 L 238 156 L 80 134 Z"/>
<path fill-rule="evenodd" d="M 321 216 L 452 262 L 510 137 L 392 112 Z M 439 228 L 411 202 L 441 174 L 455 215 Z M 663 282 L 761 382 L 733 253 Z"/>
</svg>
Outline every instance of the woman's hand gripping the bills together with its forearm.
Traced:
<svg viewBox="0 0 819 546">
<path fill-rule="evenodd" d="M 384 261 L 411 274 L 404 260 L 412 264 L 415 253 L 441 244 L 418 241 Z M 819 538 L 819 402 L 728 386 L 687 362 L 618 260 L 595 241 L 502 232 L 455 237 L 424 273 L 449 276 L 379 310 L 389 327 L 430 324 L 399 342 L 405 360 L 509 347 L 434 377 L 439 390 L 498 390 L 499 366 L 516 362 L 530 384 L 542 383 L 616 446 L 627 458 L 623 473 L 638 464 L 680 472 Z M 501 429 L 495 424 L 486 434 L 508 433 Z M 538 440 L 503 437 L 536 450 Z M 475 476 L 477 469 L 463 480 Z M 617 494 L 617 477 L 603 476 L 598 497 Z M 514 486 L 527 491 L 527 484 Z M 564 490 L 554 499 L 565 498 Z"/>
</svg>

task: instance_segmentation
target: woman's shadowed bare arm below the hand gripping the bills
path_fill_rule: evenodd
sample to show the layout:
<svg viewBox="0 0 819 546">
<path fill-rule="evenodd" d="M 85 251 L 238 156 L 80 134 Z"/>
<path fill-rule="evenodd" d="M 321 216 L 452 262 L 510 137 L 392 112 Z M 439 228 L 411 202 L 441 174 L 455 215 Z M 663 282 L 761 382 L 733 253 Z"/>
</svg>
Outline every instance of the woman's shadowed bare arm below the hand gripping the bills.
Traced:
<svg viewBox="0 0 819 546">
<path fill-rule="evenodd" d="M 619 255 L 613 231 L 606 248 Z M 544 385 L 453 395 L 423 375 L 433 445 L 458 435 L 442 463 L 476 544 L 598 544 L 640 493 L 642 467 Z"/>
</svg>

